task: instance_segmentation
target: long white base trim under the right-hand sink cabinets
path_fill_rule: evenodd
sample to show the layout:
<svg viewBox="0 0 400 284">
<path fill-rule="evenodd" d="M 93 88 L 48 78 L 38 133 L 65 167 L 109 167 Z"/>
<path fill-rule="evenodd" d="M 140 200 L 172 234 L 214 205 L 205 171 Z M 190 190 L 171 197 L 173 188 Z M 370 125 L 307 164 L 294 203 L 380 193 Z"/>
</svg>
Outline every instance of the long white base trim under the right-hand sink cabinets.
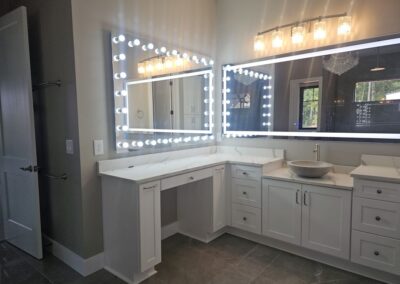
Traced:
<svg viewBox="0 0 400 284">
<path fill-rule="evenodd" d="M 309 250 L 300 246 L 292 245 L 280 240 L 249 233 L 233 227 L 228 227 L 227 233 L 259 244 L 273 247 L 291 254 L 295 254 L 304 258 L 315 260 L 345 271 L 359 274 L 364 277 L 369 277 L 385 283 L 391 283 L 391 284 L 399 283 L 398 282 L 399 278 L 396 275 L 376 270 L 373 268 L 369 268 L 360 264 L 356 264 L 354 262 L 350 262 L 350 260 L 340 259 L 317 251 Z"/>
</svg>

